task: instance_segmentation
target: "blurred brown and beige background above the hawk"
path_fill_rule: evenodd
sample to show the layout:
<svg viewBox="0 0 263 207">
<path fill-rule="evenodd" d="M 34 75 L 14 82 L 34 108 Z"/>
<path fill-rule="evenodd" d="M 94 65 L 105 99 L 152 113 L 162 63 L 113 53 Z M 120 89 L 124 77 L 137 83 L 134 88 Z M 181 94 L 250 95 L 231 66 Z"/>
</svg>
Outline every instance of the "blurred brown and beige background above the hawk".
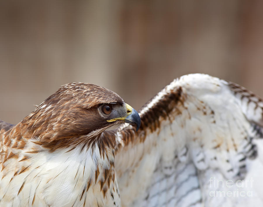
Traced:
<svg viewBox="0 0 263 207">
<path fill-rule="evenodd" d="M 136 109 L 197 72 L 263 97 L 262 10 L 260 0 L 0 0 L 0 119 L 19 122 L 74 81 Z"/>
</svg>

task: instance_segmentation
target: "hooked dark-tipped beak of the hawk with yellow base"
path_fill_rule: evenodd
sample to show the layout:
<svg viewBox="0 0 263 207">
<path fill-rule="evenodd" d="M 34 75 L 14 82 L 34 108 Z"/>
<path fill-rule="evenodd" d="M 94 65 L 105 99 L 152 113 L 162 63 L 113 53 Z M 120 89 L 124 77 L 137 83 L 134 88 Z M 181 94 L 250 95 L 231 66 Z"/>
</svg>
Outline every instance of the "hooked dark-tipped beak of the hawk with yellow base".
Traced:
<svg viewBox="0 0 263 207">
<path fill-rule="evenodd" d="M 136 131 L 138 131 L 141 126 L 141 117 L 139 116 L 138 112 L 136 112 L 136 110 L 132 108 L 129 104 L 126 104 L 126 109 L 127 109 L 127 116 L 118 117 L 107 121 L 112 122 L 117 120 L 124 120 L 124 122 L 126 123 L 136 124 Z"/>
</svg>

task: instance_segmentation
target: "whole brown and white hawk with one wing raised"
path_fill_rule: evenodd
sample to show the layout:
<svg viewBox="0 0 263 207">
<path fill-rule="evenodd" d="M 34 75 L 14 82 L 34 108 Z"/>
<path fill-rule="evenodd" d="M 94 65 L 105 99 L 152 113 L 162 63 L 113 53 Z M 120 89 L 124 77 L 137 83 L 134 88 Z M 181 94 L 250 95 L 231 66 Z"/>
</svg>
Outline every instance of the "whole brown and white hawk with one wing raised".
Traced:
<svg viewBox="0 0 263 207">
<path fill-rule="evenodd" d="M 101 86 L 66 84 L 0 122 L 0 206 L 262 206 L 262 113 L 261 98 L 205 74 L 139 113 Z"/>
</svg>

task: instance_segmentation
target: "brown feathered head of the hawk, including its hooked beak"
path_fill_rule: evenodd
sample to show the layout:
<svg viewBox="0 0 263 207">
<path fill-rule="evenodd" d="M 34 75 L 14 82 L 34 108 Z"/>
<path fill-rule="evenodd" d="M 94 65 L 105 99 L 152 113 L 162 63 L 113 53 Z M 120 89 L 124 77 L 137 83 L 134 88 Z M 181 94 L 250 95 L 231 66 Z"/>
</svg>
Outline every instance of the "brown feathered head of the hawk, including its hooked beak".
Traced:
<svg viewBox="0 0 263 207">
<path fill-rule="evenodd" d="M 102 133 L 123 122 L 138 130 L 141 119 L 117 93 L 87 83 L 61 86 L 22 121 L 32 137 L 47 143 Z"/>
</svg>

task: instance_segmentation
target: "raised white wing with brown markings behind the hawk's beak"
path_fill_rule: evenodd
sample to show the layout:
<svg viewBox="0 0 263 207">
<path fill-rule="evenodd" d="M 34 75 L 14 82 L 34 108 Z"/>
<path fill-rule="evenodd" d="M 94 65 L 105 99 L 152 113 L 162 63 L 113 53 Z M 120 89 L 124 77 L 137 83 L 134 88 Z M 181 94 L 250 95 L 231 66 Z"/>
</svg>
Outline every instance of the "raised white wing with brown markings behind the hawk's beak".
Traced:
<svg viewBox="0 0 263 207">
<path fill-rule="evenodd" d="M 116 133 L 122 206 L 263 205 L 262 100 L 204 74 L 174 80 Z"/>
</svg>

